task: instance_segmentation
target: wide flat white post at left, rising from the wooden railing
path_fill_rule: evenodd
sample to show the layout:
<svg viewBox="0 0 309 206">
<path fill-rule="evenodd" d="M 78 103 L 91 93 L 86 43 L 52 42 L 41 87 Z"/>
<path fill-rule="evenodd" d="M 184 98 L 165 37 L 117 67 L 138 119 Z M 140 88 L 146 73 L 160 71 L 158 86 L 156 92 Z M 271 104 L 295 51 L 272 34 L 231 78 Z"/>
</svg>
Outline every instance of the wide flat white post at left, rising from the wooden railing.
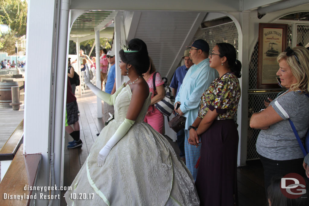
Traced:
<svg viewBox="0 0 309 206">
<path fill-rule="evenodd" d="M 36 186 L 42 187 L 49 186 L 54 51 L 57 45 L 55 33 L 59 10 L 57 3 L 57 0 L 28 1 L 23 152 L 42 154 L 36 181 Z M 44 68 L 37 64 L 42 59 Z M 49 195 L 49 191 L 37 191 L 37 196 L 39 193 Z M 47 204 L 47 199 L 36 200 L 36 205 Z"/>
</svg>

